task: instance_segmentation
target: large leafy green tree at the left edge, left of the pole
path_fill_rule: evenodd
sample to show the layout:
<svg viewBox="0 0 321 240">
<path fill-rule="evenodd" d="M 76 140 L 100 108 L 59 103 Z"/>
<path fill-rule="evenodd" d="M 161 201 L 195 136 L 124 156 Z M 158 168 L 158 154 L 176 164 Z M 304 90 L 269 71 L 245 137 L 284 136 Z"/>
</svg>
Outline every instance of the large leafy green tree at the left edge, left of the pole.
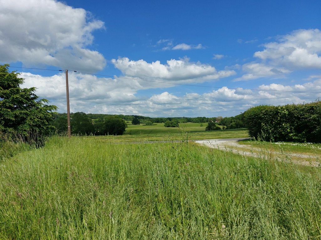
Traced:
<svg viewBox="0 0 321 240">
<path fill-rule="evenodd" d="M 18 76 L 9 71 L 9 64 L 0 65 L 0 132 L 41 146 L 53 128 L 49 122 L 57 107 L 38 100 L 35 87 L 21 88 L 24 79 Z"/>
</svg>

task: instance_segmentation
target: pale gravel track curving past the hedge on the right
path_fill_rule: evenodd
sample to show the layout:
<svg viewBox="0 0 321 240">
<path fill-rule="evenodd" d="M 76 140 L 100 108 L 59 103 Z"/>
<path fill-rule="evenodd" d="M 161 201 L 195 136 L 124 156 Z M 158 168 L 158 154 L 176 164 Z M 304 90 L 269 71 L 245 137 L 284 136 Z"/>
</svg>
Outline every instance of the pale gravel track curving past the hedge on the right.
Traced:
<svg viewBox="0 0 321 240">
<path fill-rule="evenodd" d="M 246 138 L 196 140 L 195 142 L 210 148 L 229 151 L 244 156 L 253 156 L 257 158 L 269 157 L 278 161 L 291 161 L 300 165 L 320 166 L 320 163 L 316 161 L 320 156 L 300 153 L 281 153 L 272 151 L 271 149 L 256 148 L 250 145 L 241 145 L 238 143 L 239 140 L 246 140 Z"/>
</svg>

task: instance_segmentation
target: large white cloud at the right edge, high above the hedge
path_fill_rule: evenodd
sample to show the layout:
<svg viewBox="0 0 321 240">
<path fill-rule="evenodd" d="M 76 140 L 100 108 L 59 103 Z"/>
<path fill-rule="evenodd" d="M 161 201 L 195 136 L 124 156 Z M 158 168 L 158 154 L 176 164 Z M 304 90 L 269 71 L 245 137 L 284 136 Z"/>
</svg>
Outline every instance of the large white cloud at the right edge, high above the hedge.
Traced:
<svg viewBox="0 0 321 240">
<path fill-rule="evenodd" d="M 299 29 L 278 36 L 263 44 L 264 50 L 254 53 L 258 60 L 242 66 L 245 74 L 236 80 L 260 77 L 282 77 L 308 69 L 321 69 L 321 32 L 319 29 Z"/>
</svg>

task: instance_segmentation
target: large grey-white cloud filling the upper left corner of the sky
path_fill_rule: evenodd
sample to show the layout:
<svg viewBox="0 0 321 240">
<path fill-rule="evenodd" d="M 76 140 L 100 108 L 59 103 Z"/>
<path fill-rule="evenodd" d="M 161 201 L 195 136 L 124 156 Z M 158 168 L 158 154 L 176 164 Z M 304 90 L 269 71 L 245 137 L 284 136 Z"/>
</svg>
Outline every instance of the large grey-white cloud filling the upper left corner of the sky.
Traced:
<svg viewBox="0 0 321 240">
<path fill-rule="evenodd" d="M 104 23 L 82 8 L 53 0 L 0 0 L 0 61 L 102 70 L 106 60 L 88 47 Z"/>
</svg>

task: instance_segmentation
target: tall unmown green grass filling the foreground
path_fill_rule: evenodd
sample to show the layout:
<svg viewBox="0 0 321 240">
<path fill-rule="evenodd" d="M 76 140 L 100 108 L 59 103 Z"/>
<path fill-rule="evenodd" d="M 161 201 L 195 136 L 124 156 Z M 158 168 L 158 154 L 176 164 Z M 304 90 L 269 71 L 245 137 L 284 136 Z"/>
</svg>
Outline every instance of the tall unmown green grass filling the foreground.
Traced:
<svg viewBox="0 0 321 240">
<path fill-rule="evenodd" d="M 52 137 L 0 163 L 0 239 L 319 239 L 321 169 Z"/>
</svg>

